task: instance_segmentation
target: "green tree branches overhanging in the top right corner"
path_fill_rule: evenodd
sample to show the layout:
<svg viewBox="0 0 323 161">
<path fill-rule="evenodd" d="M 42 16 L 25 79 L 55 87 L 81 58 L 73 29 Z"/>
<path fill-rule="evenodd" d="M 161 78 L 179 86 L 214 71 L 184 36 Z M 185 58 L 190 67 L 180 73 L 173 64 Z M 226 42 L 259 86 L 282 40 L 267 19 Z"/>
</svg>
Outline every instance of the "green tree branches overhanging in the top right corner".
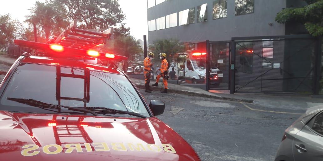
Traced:
<svg viewBox="0 0 323 161">
<path fill-rule="evenodd" d="M 281 24 L 301 23 L 313 36 L 323 35 L 323 0 L 305 0 L 307 6 L 286 8 L 280 11 L 275 21 Z"/>
</svg>

